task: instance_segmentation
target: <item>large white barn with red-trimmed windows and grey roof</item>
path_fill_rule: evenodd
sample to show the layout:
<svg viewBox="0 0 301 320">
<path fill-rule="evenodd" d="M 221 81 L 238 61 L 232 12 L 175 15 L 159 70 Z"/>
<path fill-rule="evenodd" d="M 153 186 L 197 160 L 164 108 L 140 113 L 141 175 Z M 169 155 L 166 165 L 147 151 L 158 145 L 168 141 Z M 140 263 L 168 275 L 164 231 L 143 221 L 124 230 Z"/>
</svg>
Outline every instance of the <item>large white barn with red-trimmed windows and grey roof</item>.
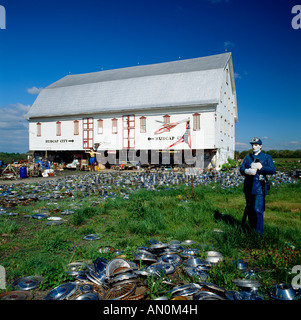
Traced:
<svg viewBox="0 0 301 320">
<path fill-rule="evenodd" d="M 126 160 L 130 151 L 142 163 L 155 161 L 152 152 L 168 163 L 202 150 L 205 166 L 219 168 L 234 157 L 232 55 L 67 75 L 40 92 L 27 117 L 36 153 L 70 159 L 96 144 L 99 161 Z"/>
</svg>

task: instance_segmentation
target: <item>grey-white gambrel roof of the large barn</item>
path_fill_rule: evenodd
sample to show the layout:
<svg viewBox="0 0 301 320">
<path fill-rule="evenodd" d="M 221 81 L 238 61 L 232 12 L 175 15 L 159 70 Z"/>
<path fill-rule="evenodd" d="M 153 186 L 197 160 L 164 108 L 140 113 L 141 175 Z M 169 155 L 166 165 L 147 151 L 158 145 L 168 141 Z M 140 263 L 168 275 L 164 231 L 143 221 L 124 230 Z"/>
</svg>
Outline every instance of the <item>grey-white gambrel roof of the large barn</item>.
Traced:
<svg viewBox="0 0 301 320">
<path fill-rule="evenodd" d="M 43 89 L 27 117 L 124 112 L 216 104 L 231 53 L 67 75 Z"/>
</svg>

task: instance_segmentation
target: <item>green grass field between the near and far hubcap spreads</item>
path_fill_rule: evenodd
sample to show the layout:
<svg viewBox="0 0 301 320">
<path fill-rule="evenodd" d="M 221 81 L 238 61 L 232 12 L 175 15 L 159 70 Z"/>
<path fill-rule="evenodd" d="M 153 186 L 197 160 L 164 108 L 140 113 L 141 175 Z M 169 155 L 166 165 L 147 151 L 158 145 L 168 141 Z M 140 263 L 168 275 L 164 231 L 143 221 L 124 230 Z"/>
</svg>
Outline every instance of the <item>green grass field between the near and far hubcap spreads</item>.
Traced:
<svg viewBox="0 0 301 320">
<path fill-rule="evenodd" d="M 18 216 L 0 216 L 0 265 L 6 269 L 6 291 L 12 289 L 9 284 L 15 279 L 42 275 L 42 298 L 50 288 L 73 279 L 64 272 L 70 262 L 115 257 L 113 253 L 99 253 L 100 248 L 122 250 L 131 261 L 135 249 L 148 246 L 150 239 L 191 239 L 196 241 L 195 246 L 202 245 L 201 258 L 212 247 L 224 256 L 211 268 L 210 282 L 234 289 L 232 280 L 242 277 L 234 261 L 243 259 L 256 271 L 262 293 L 267 293 L 274 284 L 290 283 L 292 267 L 301 265 L 300 191 L 300 181 L 272 188 L 266 198 L 261 239 L 240 225 L 245 205 L 242 185 L 228 189 L 214 184 L 198 186 L 193 194 L 190 187 L 183 185 L 169 190 L 139 190 L 129 200 L 117 197 L 102 202 L 95 195 L 18 207 Z M 62 216 L 55 212 L 58 208 L 74 213 Z M 47 226 L 44 219 L 25 217 L 43 209 L 52 212 L 52 216 L 63 217 L 64 223 Z M 83 240 L 91 233 L 100 235 L 101 240 Z M 184 274 L 181 281 L 192 282 Z"/>
</svg>

